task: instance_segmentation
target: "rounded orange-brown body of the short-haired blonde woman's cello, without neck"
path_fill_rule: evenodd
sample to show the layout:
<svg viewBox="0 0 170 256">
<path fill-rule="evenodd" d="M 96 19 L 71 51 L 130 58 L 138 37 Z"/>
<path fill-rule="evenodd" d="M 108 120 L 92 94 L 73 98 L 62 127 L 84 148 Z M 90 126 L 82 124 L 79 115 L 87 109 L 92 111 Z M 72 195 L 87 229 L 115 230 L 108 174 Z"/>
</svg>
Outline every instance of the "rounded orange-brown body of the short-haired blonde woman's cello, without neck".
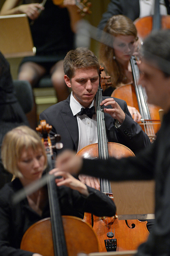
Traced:
<svg viewBox="0 0 170 256">
<path fill-rule="evenodd" d="M 88 223 L 72 216 L 62 216 L 62 222 L 68 256 L 99 251 L 98 238 Z M 33 224 L 24 234 L 20 249 L 54 256 L 51 219 L 46 218 Z"/>
</svg>

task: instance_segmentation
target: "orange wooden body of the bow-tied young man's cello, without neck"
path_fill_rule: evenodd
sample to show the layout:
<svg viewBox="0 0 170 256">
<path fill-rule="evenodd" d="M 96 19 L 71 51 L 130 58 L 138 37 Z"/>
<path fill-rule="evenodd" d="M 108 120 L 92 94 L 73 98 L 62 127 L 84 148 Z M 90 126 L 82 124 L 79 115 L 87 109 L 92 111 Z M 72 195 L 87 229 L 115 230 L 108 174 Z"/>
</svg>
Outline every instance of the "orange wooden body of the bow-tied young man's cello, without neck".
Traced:
<svg viewBox="0 0 170 256">
<path fill-rule="evenodd" d="M 122 144 L 114 142 L 107 142 L 107 144 L 110 157 L 119 159 L 134 156 L 133 152 Z M 98 143 L 83 147 L 77 154 L 83 158 L 98 158 Z M 106 190 L 105 194 L 113 199 L 112 192 L 107 193 L 107 189 L 104 187 L 102 190 Z M 88 213 L 85 213 L 84 220 L 93 227 L 99 240 L 100 252 L 136 250 L 141 243 L 148 239 L 147 221 L 118 220 L 116 216 L 101 218 Z M 109 234 L 112 234 L 113 237 L 109 238 Z"/>
</svg>

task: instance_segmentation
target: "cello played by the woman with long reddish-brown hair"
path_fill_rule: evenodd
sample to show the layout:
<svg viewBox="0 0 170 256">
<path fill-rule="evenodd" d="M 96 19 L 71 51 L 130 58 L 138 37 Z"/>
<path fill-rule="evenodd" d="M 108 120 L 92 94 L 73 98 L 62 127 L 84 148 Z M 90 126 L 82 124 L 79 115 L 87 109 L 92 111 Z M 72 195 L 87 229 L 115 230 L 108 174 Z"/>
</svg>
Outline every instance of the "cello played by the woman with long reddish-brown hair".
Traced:
<svg viewBox="0 0 170 256">
<path fill-rule="evenodd" d="M 128 105 L 134 106 L 140 113 L 142 119 L 139 122 L 142 130 L 148 135 L 151 142 L 156 139 L 156 133 L 160 129 L 159 106 L 148 104 L 147 95 L 141 84 L 138 84 L 140 77 L 135 56 L 130 59 L 132 74 L 134 78 L 134 86 L 125 84 L 116 88 L 111 97 L 123 99 Z"/>
</svg>

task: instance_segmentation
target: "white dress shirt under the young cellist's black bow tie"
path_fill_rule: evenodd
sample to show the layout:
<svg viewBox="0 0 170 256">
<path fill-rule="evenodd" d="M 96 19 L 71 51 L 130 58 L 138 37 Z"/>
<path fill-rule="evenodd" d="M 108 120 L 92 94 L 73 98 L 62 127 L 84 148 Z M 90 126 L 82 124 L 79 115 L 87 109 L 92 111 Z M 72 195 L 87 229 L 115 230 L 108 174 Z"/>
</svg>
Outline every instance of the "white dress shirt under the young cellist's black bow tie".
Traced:
<svg viewBox="0 0 170 256">
<path fill-rule="evenodd" d="M 95 106 L 94 100 L 90 104 L 91 106 Z M 85 146 L 98 143 L 98 126 L 97 126 L 97 117 L 96 114 L 92 116 L 92 119 L 87 115 L 80 116 L 78 113 L 81 111 L 81 108 L 84 108 L 72 95 L 70 96 L 70 108 L 72 114 L 77 116 L 78 121 L 78 129 L 79 129 L 79 144 L 78 144 L 78 152 Z M 96 112 L 96 107 L 95 107 Z"/>
</svg>

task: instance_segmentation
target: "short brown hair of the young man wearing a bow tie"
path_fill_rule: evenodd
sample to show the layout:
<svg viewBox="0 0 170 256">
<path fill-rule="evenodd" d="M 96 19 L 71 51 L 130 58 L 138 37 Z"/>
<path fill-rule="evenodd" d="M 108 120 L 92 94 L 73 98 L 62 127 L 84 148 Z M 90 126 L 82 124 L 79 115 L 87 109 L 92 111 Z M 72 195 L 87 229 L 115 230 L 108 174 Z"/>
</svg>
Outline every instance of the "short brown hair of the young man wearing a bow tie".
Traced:
<svg viewBox="0 0 170 256">
<path fill-rule="evenodd" d="M 76 50 L 71 50 L 64 58 L 64 74 L 69 79 L 74 77 L 76 69 L 96 68 L 99 74 L 99 61 L 92 51 L 87 48 L 79 47 Z"/>
</svg>

